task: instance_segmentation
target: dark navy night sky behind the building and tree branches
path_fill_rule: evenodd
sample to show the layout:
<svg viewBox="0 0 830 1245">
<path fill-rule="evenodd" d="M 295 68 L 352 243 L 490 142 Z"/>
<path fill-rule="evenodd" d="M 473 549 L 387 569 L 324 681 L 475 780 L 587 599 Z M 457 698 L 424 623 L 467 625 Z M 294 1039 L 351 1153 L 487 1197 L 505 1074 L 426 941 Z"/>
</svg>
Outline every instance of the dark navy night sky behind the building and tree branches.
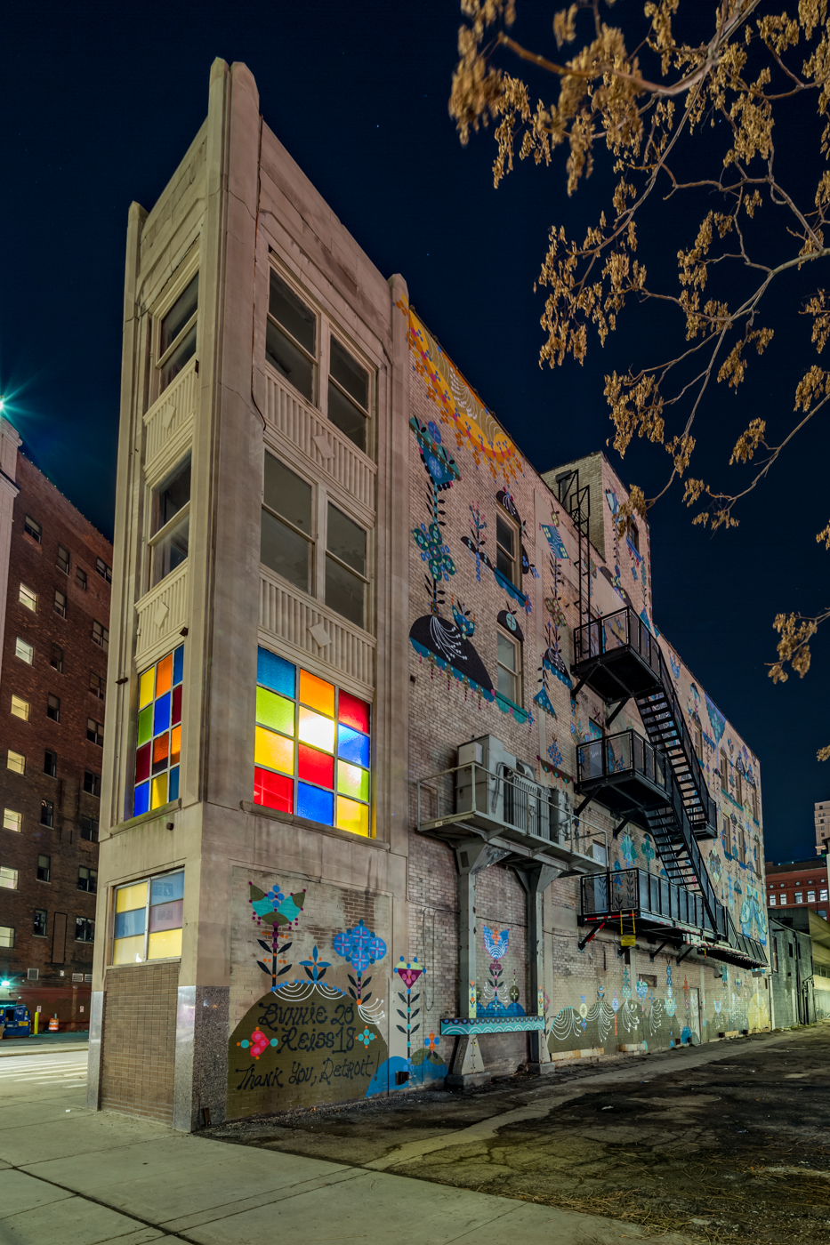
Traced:
<svg viewBox="0 0 830 1245">
<path fill-rule="evenodd" d="M 552 55 L 558 7 L 518 0 L 513 34 Z M 127 209 L 152 207 L 176 169 L 207 112 L 217 56 L 249 66 L 265 122 L 378 268 L 404 275 L 419 314 L 536 468 L 603 448 L 613 431 L 603 375 L 673 352 L 665 312 L 632 306 L 604 350 L 591 341 L 583 367 L 540 369 L 533 280 L 547 230 L 583 229 L 609 182 L 598 171 L 568 200 L 560 152 L 550 171 L 522 166 L 494 190 L 491 133 L 464 149 L 447 115 L 459 21 L 455 0 L 5 6 L 0 393 L 24 449 L 110 538 Z M 536 86 L 550 97 L 546 80 Z M 796 188 L 805 164 L 815 183 L 811 127 L 793 115 L 778 146 Z M 646 222 L 651 271 L 673 270 L 700 215 L 678 204 L 652 218 L 651 238 Z M 738 395 L 712 393 L 694 474 L 730 484 L 732 444 L 754 415 L 789 427 L 795 382 L 815 360 L 794 314 L 803 293 L 793 278 L 775 295 L 764 319 L 775 350 Z M 764 666 L 778 611 L 828 604 L 830 554 L 815 543 L 830 518 L 825 426 L 800 436 L 743 504 L 739 528 L 692 528 L 677 487 L 649 515 L 654 619 L 760 761 L 774 860 L 814 855 L 813 804 L 830 796 L 830 762 L 815 761 L 830 743 L 830 634 L 804 680 L 774 686 Z M 626 483 L 647 496 L 662 487 L 663 451 L 634 447 L 622 463 L 607 453 Z"/>
</svg>

